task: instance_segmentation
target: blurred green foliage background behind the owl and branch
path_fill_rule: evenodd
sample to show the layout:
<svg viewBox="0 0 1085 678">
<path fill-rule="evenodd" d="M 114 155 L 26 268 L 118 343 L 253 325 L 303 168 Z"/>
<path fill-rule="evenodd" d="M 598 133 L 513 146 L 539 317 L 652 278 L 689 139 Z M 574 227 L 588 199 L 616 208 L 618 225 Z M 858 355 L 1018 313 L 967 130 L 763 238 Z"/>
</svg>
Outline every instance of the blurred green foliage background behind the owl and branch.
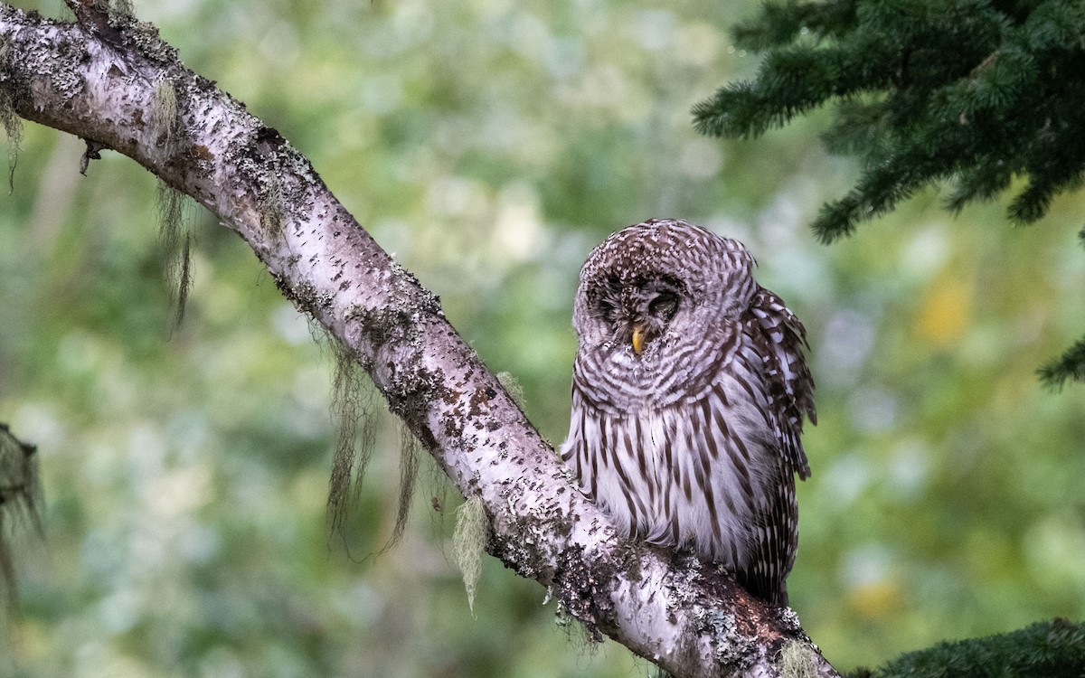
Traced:
<svg viewBox="0 0 1085 678">
<path fill-rule="evenodd" d="M 63 15 L 60 0 L 18 3 Z M 442 297 L 559 443 L 577 271 L 610 231 L 680 216 L 743 240 L 805 321 L 820 424 L 790 579 L 841 668 L 1085 617 L 1085 394 L 1036 367 L 1081 334 L 1085 197 L 1041 227 L 920 194 L 831 247 L 807 229 L 856 169 L 822 115 L 756 142 L 690 106 L 756 63 L 753 2 L 157 0 L 136 13 L 312 161 Z M 0 212 L 0 421 L 38 445 L 47 542 L 16 539 L 0 675 L 627 677 L 532 581 L 485 559 L 472 618 L 460 498 L 430 464 L 394 549 L 398 431 L 329 543 L 330 355 L 244 243 L 194 206 L 170 334 L 154 177 L 27 125 Z M 168 341 L 167 341 L 168 337 Z M 439 506 L 441 511 L 433 507 Z"/>
</svg>

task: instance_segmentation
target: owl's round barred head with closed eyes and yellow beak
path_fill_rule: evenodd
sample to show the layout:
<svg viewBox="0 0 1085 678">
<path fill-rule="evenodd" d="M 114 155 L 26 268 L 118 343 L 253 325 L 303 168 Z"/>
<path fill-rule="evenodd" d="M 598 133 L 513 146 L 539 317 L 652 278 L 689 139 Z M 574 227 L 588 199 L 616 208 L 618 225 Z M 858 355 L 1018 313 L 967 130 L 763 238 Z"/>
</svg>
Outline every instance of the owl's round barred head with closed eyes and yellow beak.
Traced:
<svg viewBox="0 0 1085 678">
<path fill-rule="evenodd" d="M 749 306 L 752 267 L 741 243 L 681 220 L 612 234 L 580 271 L 580 373 L 613 386 L 609 399 L 627 409 L 697 388 Z"/>
</svg>

